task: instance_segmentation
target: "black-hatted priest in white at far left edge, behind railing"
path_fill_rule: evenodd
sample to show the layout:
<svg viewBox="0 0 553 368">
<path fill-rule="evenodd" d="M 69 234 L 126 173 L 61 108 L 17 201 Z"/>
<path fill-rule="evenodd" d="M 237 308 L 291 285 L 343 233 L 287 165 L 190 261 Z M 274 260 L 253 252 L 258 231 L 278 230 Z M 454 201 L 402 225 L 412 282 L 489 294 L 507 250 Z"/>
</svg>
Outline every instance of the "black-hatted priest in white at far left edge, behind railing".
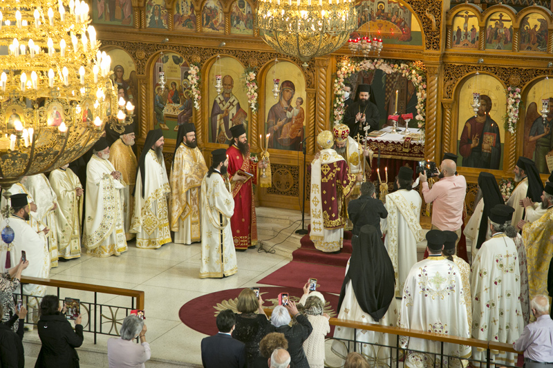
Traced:
<svg viewBox="0 0 553 368">
<path fill-rule="evenodd" d="M 13 194 L 10 200 L 14 214 L 9 219 L 3 220 L 0 227 L 4 229 L 9 222 L 10 227 L 15 233 L 15 238 L 10 244 L 6 244 L 0 238 L 0 265 L 2 272 L 15 267 L 21 259 L 21 251 L 25 251 L 29 265 L 21 272 L 21 275 L 33 278 L 49 278 L 50 253 L 48 252 L 48 244 L 46 244 L 45 238 L 45 235 L 48 234 L 48 229 L 37 233 L 27 223 L 30 209 L 25 194 Z M 6 262 L 8 252 L 10 260 Z M 25 295 L 38 296 L 39 298 L 46 294 L 46 289 L 47 287 L 44 285 L 25 284 L 23 286 Z M 17 288 L 15 293 L 20 293 L 20 290 Z M 37 298 L 28 298 L 27 306 L 38 309 Z"/>
</svg>

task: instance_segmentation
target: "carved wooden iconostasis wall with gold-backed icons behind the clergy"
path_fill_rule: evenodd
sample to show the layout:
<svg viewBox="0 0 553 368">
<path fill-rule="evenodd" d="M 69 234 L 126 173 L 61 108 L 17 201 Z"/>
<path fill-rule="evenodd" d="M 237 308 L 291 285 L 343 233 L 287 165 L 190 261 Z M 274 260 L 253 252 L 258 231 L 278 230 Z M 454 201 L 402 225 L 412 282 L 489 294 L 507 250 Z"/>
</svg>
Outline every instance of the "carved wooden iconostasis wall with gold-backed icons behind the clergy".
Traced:
<svg viewBox="0 0 553 368">
<path fill-rule="evenodd" d="M 149 129 L 162 127 L 170 167 L 178 124 L 194 122 L 198 146 L 209 164 L 214 149 L 228 146 L 232 124 L 244 124 L 252 153 L 266 148 L 265 135 L 270 133 L 272 187 L 257 188 L 256 200 L 264 206 L 301 207 L 301 141 L 306 139 L 309 164 L 318 151 L 313 136 L 330 129 L 337 117 L 337 70 L 359 65 L 361 55 L 352 55 L 345 45 L 302 68 L 299 59 L 278 54 L 259 37 L 254 1 L 92 0 L 90 5 L 102 50 L 112 57 L 113 78 L 136 106 L 138 150 Z M 378 35 L 384 49 L 380 57 L 371 52 L 373 67 L 348 78 L 355 78 L 355 84 L 373 84 L 381 124 L 393 108 L 393 90 L 401 90 L 398 110 L 422 116 L 425 158 L 439 161 L 445 151 L 458 153 L 458 171 L 471 187 L 482 170 L 498 180 L 513 177 L 518 155 L 534 157 L 536 142 L 528 139 L 531 125 L 541 119 L 541 99 L 553 97 L 553 81 L 551 86 L 543 81 L 553 71 L 547 68 L 553 56 L 550 10 L 529 6 L 516 12 L 508 5 L 482 10 L 471 3 L 449 9 L 448 1 L 358 0 L 357 11 L 353 35 Z M 408 66 L 407 74 L 402 65 Z M 165 72 L 165 90 L 159 88 L 160 70 Z M 254 108 L 245 79 L 250 72 L 257 88 Z M 414 79 L 411 72 L 416 73 Z M 222 95 L 216 93 L 215 75 L 224 79 Z M 272 93 L 274 79 L 280 79 L 277 97 Z M 509 87 L 520 88 L 522 99 L 514 135 L 505 128 Z M 470 105 L 475 92 L 489 97 L 489 119 L 495 124 L 494 162 L 485 168 L 471 164 L 470 147 L 467 151 L 466 142 L 462 146 L 463 133 L 468 136 L 465 126 L 474 117 Z M 285 106 L 295 111 L 294 119 L 286 115 Z M 221 115 L 224 110 L 227 116 Z M 413 119 L 411 126 L 416 122 L 421 121 Z M 309 173 L 307 177 L 309 184 Z M 306 199 L 308 206 L 308 191 Z"/>
</svg>

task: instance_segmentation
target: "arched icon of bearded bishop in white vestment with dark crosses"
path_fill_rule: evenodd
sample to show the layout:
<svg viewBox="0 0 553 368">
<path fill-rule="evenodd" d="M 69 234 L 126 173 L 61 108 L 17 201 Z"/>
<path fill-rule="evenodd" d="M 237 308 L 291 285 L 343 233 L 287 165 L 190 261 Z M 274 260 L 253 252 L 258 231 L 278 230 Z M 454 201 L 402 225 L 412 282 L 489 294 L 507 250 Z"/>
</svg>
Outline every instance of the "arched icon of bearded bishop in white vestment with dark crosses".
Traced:
<svg viewBox="0 0 553 368">
<path fill-rule="evenodd" d="M 209 142 L 229 144 L 232 141 L 230 128 L 243 124 L 248 136 L 250 108 L 243 88 L 244 67 L 234 57 L 221 57 L 209 69 Z M 221 76 L 222 90 L 217 93 L 215 76 Z"/>
</svg>

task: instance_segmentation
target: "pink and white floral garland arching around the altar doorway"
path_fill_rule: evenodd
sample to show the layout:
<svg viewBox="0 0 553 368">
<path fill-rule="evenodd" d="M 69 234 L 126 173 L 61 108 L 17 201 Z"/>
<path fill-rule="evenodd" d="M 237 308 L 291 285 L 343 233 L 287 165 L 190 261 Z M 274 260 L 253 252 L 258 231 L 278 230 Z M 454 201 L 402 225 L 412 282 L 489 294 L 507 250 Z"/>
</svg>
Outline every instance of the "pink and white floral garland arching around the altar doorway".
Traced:
<svg viewBox="0 0 553 368">
<path fill-rule="evenodd" d="M 393 72 L 402 73 L 403 77 L 407 77 L 417 90 L 417 120 L 418 127 L 424 130 L 424 118 L 426 116 L 426 101 L 427 101 L 427 81 L 426 72 L 422 69 L 421 64 L 388 64 L 383 59 L 355 61 L 351 60 L 348 64 L 341 66 L 336 72 L 334 80 L 334 124 L 340 124 L 344 118 L 344 81 L 351 77 L 352 74 L 361 70 L 380 69 L 386 74 Z"/>
</svg>

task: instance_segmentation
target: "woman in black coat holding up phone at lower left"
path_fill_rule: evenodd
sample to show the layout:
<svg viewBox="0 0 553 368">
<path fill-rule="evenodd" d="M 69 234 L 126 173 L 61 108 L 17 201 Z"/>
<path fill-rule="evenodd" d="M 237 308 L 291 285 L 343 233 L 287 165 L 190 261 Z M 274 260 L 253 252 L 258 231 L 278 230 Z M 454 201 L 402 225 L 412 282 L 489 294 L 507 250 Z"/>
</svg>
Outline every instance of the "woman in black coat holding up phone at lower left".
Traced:
<svg viewBox="0 0 553 368">
<path fill-rule="evenodd" d="M 82 319 L 75 320 L 75 331 L 71 323 L 60 313 L 57 296 L 45 296 L 40 303 L 38 322 L 39 338 L 42 342 L 35 368 L 78 368 L 79 356 L 75 347 L 82 345 Z"/>
</svg>

